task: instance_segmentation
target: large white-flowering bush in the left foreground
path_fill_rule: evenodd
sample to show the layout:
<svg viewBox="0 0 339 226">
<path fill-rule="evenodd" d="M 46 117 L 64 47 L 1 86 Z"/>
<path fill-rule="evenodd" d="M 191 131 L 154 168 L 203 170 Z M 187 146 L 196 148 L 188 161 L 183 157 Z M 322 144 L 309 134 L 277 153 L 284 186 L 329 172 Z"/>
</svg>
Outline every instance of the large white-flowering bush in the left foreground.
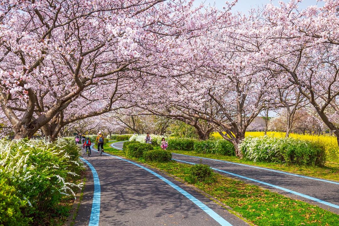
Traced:
<svg viewBox="0 0 339 226">
<path fill-rule="evenodd" d="M 84 169 L 80 154 L 64 139 L 0 140 L 0 203 L 16 200 L 0 205 L 0 225 L 48 225 L 46 219 L 62 212 L 60 203 L 74 199 L 82 186 L 76 183 Z"/>
</svg>

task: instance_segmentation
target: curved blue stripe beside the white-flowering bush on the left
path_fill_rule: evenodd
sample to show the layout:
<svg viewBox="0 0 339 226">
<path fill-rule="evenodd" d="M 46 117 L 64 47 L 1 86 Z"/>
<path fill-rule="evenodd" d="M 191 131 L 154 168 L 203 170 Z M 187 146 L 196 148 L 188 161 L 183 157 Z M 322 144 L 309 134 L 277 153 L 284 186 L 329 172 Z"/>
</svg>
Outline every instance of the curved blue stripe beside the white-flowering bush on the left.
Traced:
<svg viewBox="0 0 339 226">
<path fill-rule="evenodd" d="M 94 179 L 92 211 L 91 211 L 91 217 L 89 218 L 88 226 L 98 226 L 99 217 L 100 217 L 100 181 L 99 181 L 98 173 L 91 163 L 89 163 L 84 158 L 80 158 L 80 159 L 84 161 L 89 166 L 89 168 L 92 170 L 93 179 Z"/>
</svg>

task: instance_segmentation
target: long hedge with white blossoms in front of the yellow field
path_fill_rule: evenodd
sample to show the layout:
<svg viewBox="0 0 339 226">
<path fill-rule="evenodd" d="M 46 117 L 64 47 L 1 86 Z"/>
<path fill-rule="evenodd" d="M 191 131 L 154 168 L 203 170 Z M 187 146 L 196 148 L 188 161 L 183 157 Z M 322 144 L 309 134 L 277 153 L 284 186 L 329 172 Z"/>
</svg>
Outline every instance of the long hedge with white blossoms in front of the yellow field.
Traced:
<svg viewBox="0 0 339 226">
<path fill-rule="evenodd" d="M 244 158 L 254 162 L 323 166 L 326 161 L 321 144 L 294 138 L 246 137 L 239 147 Z"/>
</svg>

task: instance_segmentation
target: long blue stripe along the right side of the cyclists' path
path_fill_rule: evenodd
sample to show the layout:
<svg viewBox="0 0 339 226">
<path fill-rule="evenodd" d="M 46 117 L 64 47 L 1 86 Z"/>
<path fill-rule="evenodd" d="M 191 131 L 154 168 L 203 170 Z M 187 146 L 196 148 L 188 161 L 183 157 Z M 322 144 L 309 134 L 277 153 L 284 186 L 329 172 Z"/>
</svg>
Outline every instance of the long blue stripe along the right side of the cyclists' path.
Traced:
<svg viewBox="0 0 339 226">
<path fill-rule="evenodd" d="M 187 191 L 185 191 L 184 189 L 180 188 L 179 186 L 175 185 L 173 182 L 167 180 L 166 178 L 164 178 L 163 176 L 159 175 L 158 173 L 152 171 L 151 169 L 148 169 L 142 165 L 139 165 L 135 162 L 129 161 L 127 159 L 123 159 L 120 158 L 118 156 L 113 156 L 113 155 L 109 155 L 107 153 L 103 153 L 107 156 L 112 156 L 115 157 L 117 159 L 132 163 L 133 165 L 136 165 L 150 173 L 152 173 L 154 176 L 158 177 L 159 179 L 163 180 L 164 182 L 166 182 L 167 184 L 169 184 L 170 186 L 172 186 L 174 189 L 176 189 L 177 191 L 179 191 L 181 194 L 183 194 L 186 198 L 188 198 L 189 200 L 191 200 L 194 204 L 196 204 L 198 207 L 200 207 L 203 211 L 205 211 L 208 215 L 210 215 L 216 222 L 218 222 L 221 226 L 232 226 L 232 224 L 230 224 L 228 221 L 226 221 L 225 219 L 223 219 L 222 217 L 220 217 L 220 215 L 216 212 L 214 212 L 211 208 L 209 208 L 208 206 L 206 206 L 205 204 L 203 204 L 202 202 L 200 202 L 197 198 L 195 198 L 194 196 L 192 196 L 190 193 L 188 193 Z"/>
</svg>

